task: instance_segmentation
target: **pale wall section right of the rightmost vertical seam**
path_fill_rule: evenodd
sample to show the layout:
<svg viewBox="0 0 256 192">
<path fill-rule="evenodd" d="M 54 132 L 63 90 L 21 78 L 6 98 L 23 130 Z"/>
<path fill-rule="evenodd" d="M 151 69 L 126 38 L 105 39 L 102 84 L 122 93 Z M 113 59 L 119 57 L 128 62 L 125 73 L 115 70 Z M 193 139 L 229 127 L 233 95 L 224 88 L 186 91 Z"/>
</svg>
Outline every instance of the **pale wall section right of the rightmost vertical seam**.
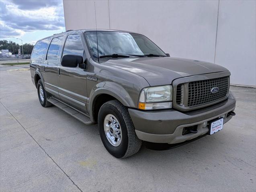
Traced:
<svg viewBox="0 0 256 192">
<path fill-rule="evenodd" d="M 256 1 L 220 1 L 215 63 L 231 83 L 256 85 Z"/>
</svg>

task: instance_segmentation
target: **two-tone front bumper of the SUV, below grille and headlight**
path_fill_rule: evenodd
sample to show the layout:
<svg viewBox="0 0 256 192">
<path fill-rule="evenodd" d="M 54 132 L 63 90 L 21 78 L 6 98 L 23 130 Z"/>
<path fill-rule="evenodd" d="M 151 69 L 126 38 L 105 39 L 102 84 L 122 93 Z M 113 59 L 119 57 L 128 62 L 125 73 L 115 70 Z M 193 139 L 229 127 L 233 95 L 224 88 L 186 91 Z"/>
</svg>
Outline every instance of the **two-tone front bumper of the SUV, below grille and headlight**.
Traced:
<svg viewBox="0 0 256 192">
<path fill-rule="evenodd" d="M 135 132 L 139 139 L 175 144 L 206 134 L 208 126 L 203 128 L 203 122 L 209 122 L 224 115 L 224 124 L 231 119 L 227 113 L 236 107 L 236 98 L 229 91 L 229 98 L 218 104 L 189 112 L 170 110 L 141 111 L 128 109 Z M 197 133 L 182 135 L 184 127 L 197 125 Z"/>
</svg>

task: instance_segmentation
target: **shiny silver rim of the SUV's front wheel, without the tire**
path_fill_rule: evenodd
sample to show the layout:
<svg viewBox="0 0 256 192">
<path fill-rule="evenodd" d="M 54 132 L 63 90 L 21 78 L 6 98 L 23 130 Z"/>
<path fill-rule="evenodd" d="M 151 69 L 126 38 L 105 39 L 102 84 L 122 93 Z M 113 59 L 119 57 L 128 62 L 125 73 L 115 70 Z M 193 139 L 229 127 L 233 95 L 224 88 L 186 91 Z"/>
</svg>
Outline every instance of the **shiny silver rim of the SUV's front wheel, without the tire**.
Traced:
<svg viewBox="0 0 256 192">
<path fill-rule="evenodd" d="M 112 114 L 106 115 L 104 119 L 104 131 L 106 138 L 110 144 L 117 147 L 122 141 L 122 131 L 120 124 L 115 116 Z"/>
</svg>

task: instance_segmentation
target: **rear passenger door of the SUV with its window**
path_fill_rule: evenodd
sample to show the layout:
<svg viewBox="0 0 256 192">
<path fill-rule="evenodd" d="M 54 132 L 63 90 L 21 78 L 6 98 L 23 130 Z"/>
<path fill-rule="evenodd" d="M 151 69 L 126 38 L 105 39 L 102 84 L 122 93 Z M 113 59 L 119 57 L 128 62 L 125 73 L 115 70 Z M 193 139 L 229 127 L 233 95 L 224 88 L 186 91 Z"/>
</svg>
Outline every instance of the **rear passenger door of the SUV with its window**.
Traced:
<svg viewBox="0 0 256 192">
<path fill-rule="evenodd" d="M 45 69 L 44 80 L 45 89 L 55 97 L 59 98 L 58 84 L 57 84 L 57 66 L 60 62 L 60 50 L 63 43 L 63 36 L 54 37 L 49 45 L 46 57 L 45 57 Z"/>
</svg>

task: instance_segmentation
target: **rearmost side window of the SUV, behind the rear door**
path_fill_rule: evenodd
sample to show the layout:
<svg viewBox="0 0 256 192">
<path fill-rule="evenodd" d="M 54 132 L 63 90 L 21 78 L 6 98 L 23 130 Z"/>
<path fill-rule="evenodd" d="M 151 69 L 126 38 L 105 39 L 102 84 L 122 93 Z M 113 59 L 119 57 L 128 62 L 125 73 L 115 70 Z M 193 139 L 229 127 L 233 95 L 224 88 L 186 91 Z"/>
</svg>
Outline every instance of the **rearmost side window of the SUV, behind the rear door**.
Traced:
<svg viewBox="0 0 256 192">
<path fill-rule="evenodd" d="M 35 48 L 33 50 L 33 53 L 31 55 L 31 59 L 35 60 L 43 60 L 43 56 L 45 55 L 46 48 L 49 44 L 50 38 L 43 39 L 41 41 L 38 41 L 35 44 Z"/>
</svg>

